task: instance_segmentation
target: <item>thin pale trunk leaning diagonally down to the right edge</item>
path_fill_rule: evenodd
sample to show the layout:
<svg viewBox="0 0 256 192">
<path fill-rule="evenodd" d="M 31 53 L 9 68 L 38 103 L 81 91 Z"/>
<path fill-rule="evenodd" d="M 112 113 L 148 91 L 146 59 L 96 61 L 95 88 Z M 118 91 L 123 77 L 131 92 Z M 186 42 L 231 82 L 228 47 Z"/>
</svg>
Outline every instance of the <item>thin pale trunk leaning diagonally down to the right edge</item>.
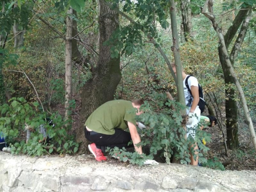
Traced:
<svg viewBox="0 0 256 192">
<path fill-rule="evenodd" d="M 256 134 L 255 134 L 255 130 L 253 128 L 252 119 L 251 119 L 251 116 L 250 116 L 250 113 L 249 113 L 249 110 L 248 110 L 248 106 L 247 106 L 247 103 L 246 103 L 244 91 L 242 90 L 242 87 L 241 87 L 241 85 L 240 85 L 240 83 L 237 79 L 237 76 L 234 72 L 232 63 L 229 59 L 229 54 L 228 54 L 227 48 L 226 48 L 225 37 L 223 36 L 222 30 L 221 30 L 221 28 L 219 28 L 218 23 L 215 20 L 215 16 L 213 15 L 213 12 L 212 12 L 212 3 L 213 3 L 212 0 L 210 0 L 210 1 L 207 0 L 206 1 L 206 3 L 204 4 L 204 7 L 202 9 L 202 14 L 204 14 L 207 18 L 209 18 L 211 20 L 212 26 L 214 27 L 214 30 L 218 34 L 218 38 L 219 38 L 219 42 L 220 42 L 220 45 L 219 45 L 220 48 L 219 49 L 223 54 L 222 58 L 226 63 L 226 70 L 230 72 L 231 78 L 233 79 L 233 82 L 236 85 L 238 93 L 240 95 L 240 99 L 241 99 L 241 102 L 242 102 L 242 107 L 243 107 L 244 113 L 245 113 L 246 123 L 248 124 L 249 130 L 250 130 L 250 133 L 251 133 L 253 147 L 256 150 Z M 206 12 L 207 5 L 208 5 L 208 10 L 210 11 L 210 13 Z M 231 40 L 230 40 L 230 42 L 231 42 Z"/>
</svg>

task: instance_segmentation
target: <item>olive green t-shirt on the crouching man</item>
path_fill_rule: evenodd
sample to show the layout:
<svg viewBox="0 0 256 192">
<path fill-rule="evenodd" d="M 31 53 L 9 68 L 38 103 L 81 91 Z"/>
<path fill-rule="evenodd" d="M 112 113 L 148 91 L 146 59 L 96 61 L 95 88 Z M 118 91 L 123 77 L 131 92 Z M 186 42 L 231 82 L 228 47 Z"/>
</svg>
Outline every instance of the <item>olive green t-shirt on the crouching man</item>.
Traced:
<svg viewBox="0 0 256 192">
<path fill-rule="evenodd" d="M 114 100 L 99 106 L 84 125 L 97 133 L 113 135 L 114 128 L 127 129 L 127 121 L 136 126 L 135 117 L 136 111 L 131 101 Z"/>
</svg>

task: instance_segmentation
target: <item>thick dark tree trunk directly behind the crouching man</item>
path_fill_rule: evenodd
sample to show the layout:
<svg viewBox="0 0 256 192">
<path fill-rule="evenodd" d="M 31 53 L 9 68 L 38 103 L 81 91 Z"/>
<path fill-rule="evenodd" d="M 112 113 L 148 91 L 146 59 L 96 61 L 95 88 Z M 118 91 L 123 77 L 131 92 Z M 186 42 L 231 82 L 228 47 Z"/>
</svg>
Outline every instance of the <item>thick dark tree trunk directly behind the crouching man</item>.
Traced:
<svg viewBox="0 0 256 192">
<path fill-rule="evenodd" d="M 84 123 L 89 115 L 103 103 L 113 100 L 121 80 L 120 57 L 111 58 L 111 45 L 103 45 L 118 27 L 118 14 L 100 2 L 99 12 L 99 60 L 93 77 L 82 88 L 80 127 L 76 130 L 80 152 L 87 152 L 88 141 L 84 136 Z"/>
</svg>

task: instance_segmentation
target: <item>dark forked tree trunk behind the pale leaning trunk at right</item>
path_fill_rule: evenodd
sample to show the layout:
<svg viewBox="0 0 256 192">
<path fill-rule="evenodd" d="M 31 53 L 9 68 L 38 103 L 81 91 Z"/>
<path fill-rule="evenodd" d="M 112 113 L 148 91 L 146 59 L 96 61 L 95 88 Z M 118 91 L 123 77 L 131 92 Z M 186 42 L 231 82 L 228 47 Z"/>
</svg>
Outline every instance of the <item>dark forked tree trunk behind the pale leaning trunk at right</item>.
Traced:
<svg viewBox="0 0 256 192">
<path fill-rule="evenodd" d="M 250 12 L 251 11 L 248 11 L 248 10 L 240 10 L 236 18 L 234 19 L 233 25 L 230 26 L 227 33 L 225 34 L 224 40 L 226 44 L 226 49 L 228 49 L 241 23 L 244 21 L 239 33 L 240 35 L 238 35 L 237 41 L 234 44 L 234 47 L 229 56 L 232 65 L 234 64 L 234 59 L 237 56 L 237 53 L 241 47 L 246 31 L 248 29 L 248 23 L 249 23 L 248 14 Z M 225 83 L 228 85 L 228 87 L 230 87 L 231 84 L 234 84 L 234 80 L 230 75 L 230 71 L 228 70 L 225 56 L 222 52 L 221 46 L 219 46 L 218 51 L 219 51 L 219 59 L 220 59 L 223 74 L 224 74 L 224 80 L 225 80 Z M 225 90 L 225 94 L 227 98 L 225 100 L 227 146 L 229 147 L 229 149 L 233 149 L 233 148 L 239 147 L 238 124 L 237 124 L 237 102 L 235 101 L 235 90 L 232 87 L 227 88 Z"/>
</svg>

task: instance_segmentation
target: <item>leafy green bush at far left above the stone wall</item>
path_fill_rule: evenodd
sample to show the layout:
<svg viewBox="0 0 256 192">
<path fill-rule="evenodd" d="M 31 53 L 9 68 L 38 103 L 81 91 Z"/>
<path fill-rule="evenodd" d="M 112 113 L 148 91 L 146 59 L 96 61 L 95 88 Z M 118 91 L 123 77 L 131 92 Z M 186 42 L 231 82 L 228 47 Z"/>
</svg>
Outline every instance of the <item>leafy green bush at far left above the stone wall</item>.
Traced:
<svg viewBox="0 0 256 192">
<path fill-rule="evenodd" d="M 58 113 L 53 113 L 52 119 L 55 127 L 48 125 L 46 114 L 38 111 L 38 103 L 33 103 L 35 109 L 24 98 L 12 98 L 9 103 L 0 105 L 0 131 L 7 137 L 14 154 L 23 153 L 40 156 L 46 153 L 74 154 L 78 151 L 79 144 L 74 142 L 74 136 L 68 135 L 70 128 L 66 127 L 68 121 L 64 121 Z M 25 143 L 23 134 L 25 123 L 37 128 L 44 125 L 46 133 L 51 138 L 50 143 L 39 143 L 43 139 L 37 131 L 31 132 L 31 138 Z M 22 138 L 23 136 L 23 138 Z"/>
</svg>

